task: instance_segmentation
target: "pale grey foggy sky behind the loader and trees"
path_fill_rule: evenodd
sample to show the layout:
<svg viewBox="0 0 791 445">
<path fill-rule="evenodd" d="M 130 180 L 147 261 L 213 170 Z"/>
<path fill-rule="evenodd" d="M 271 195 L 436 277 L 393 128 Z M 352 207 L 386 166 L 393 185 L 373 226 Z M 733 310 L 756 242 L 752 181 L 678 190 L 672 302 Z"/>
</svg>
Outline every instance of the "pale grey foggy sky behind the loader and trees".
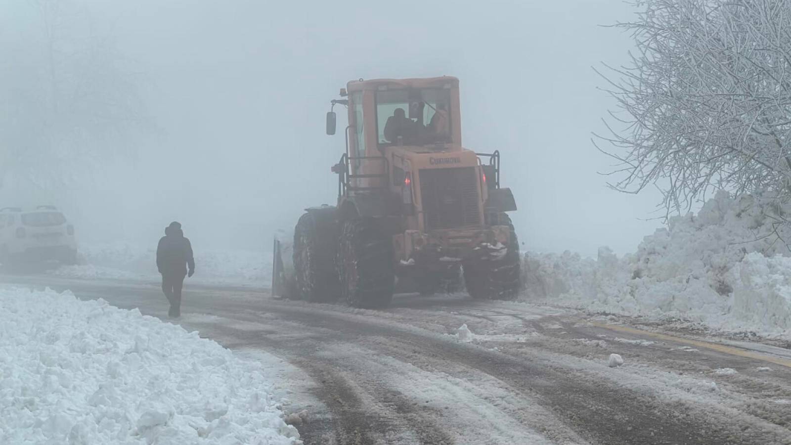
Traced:
<svg viewBox="0 0 791 445">
<path fill-rule="evenodd" d="M 51 87 L 42 73 L 52 51 L 109 48 L 112 57 L 91 69 L 106 74 L 102 60 L 112 60 L 123 82 L 81 80 L 104 82 L 112 101 L 137 97 L 134 125 L 86 142 L 98 147 L 88 154 L 78 142 L 62 158 L 12 167 L 0 207 L 55 203 L 84 241 L 153 244 L 175 219 L 195 249 L 269 249 L 302 208 L 335 203 L 330 166 L 343 134 L 324 135 L 324 113 L 339 89 L 351 79 L 443 74 L 460 78 L 464 146 L 501 150 L 524 249 L 623 253 L 660 225 L 642 220 L 657 216 L 656 195 L 607 188 L 597 172 L 612 162 L 590 141 L 614 107 L 591 67 L 625 63 L 632 46 L 600 26 L 630 18 L 622 2 L 58 3 L 55 16 L 41 13 L 42 2 L 0 3 L 0 162 L 36 150 L 31 135 L 44 118 L 20 104 L 37 97 L 36 76 Z M 119 99 L 118 89 L 130 94 Z M 88 116 L 105 96 L 86 102 Z M 57 181 L 40 179 L 49 174 L 42 165 Z"/>
</svg>

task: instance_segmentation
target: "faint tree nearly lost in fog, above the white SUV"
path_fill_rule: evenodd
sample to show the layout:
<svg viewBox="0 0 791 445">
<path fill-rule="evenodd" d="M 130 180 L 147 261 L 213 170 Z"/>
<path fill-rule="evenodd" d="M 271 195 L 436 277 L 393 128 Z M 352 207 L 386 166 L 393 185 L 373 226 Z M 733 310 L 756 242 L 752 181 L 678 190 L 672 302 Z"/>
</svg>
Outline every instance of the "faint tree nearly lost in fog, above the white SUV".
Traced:
<svg viewBox="0 0 791 445">
<path fill-rule="evenodd" d="M 87 10 L 29 3 L 29 26 L 0 37 L 0 188 L 67 187 L 120 155 L 152 127 L 136 74 Z M 17 35 L 18 33 L 18 35 Z"/>
</svg>

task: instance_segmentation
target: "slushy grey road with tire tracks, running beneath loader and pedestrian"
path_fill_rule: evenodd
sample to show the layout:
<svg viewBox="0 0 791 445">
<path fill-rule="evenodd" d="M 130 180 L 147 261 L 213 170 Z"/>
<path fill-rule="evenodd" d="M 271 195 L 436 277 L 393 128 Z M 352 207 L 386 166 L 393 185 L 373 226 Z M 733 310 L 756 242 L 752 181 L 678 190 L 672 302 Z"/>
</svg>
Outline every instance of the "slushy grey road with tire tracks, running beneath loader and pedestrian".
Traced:
<svg viewBox="0 0 791 445">
<path fill-rule="evenodd" d="M 155 283 L 0 282 L 166 313 Z M 187 330 L 267 363 L 286 411 L 307 413 L 306 444 L 791 443 L 782 344 L 464 295 L 372 311 L 187 282 L 183 314 Z"/>
</svg>

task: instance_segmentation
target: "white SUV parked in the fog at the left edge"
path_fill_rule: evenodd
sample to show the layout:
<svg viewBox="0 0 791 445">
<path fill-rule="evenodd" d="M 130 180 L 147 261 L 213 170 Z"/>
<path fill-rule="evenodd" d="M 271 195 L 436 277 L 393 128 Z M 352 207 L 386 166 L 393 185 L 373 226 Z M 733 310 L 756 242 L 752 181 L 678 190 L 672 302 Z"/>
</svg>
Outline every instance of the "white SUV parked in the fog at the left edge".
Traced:
<svg viewBox="0 0 791 445">
<path fill-rule="evenodd" d="M 53 206 L 0 209 L 0 263 L 43 261 L 77 263 L 74 226 L 66 216 Z"/>
</svg>

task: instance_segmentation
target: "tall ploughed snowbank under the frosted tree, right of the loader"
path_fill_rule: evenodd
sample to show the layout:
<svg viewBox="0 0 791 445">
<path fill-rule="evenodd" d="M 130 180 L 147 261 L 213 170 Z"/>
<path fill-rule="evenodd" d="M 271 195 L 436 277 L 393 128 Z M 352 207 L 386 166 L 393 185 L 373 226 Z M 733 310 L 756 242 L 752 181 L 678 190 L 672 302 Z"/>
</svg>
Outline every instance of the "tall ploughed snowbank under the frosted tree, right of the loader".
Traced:
<svg viewBox="0 0 791 445">
<path fill-rule="evenodd" d="M 791 337 L 791 251 L 775 234 L 783 215 L 774 200 L 720 192 L 623 258 L 606 247 L 596 260 L 528 253 L 524 296 Z"/>
</svg>

